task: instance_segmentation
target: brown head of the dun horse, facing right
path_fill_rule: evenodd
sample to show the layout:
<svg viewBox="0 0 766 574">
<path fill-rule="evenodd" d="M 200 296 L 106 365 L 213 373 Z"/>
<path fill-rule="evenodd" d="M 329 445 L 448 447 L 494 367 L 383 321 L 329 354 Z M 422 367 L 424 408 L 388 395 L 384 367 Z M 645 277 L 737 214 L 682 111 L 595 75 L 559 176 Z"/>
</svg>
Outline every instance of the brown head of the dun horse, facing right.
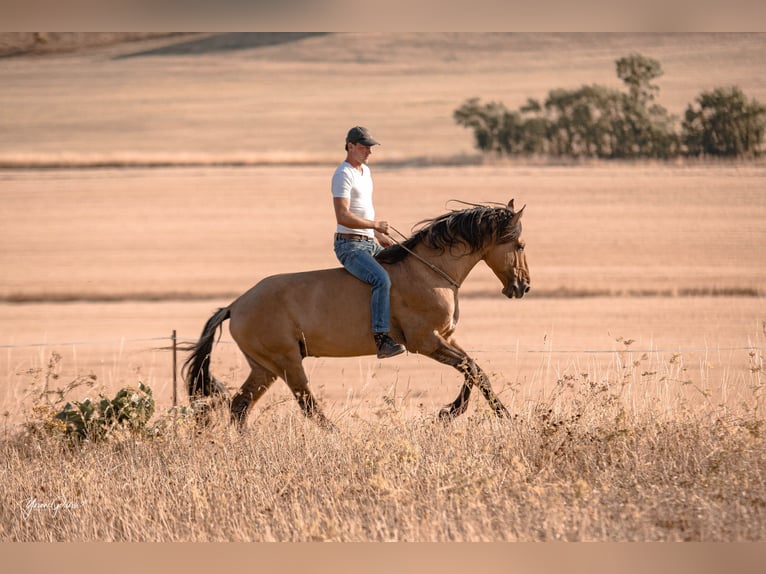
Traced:
<svg viewBox="0 0 766 574">
<path fill-rule="evenodd" d="M 503 295 L 508 298 L 523 297 L 529 291 L 529 267 L 521 238 L 522 207 L 513 210 L 513 200 L 508 202 L 508 222 L 497 233 L 497 241 L 487 246 L 484 261 L 503 283 Z"/>
</svg>

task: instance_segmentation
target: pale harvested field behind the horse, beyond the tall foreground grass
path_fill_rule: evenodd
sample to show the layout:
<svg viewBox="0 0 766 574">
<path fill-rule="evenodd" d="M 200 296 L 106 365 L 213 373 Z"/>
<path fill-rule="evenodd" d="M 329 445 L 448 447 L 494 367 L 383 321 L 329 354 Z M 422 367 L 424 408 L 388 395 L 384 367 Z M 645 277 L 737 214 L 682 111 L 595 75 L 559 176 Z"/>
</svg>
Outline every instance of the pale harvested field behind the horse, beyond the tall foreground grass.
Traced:
<svg viewBox="0 0 766 574">
<path fill-rule="evenodd" d="M 357 123 L 383 142 L 376 207 L 400 231 L 450 200 L 526 204 L 532 291 L 509 301 L 480 266 L 458 327 L 509 405 L 620 360 L 618 338 L 657 363 L 683 353 L 707 384 L 741 383 L 746 347 L 766 337 L 766 167 L 482 162 L 451 113 L 472 96 L 516 107 L 554 87 L 618 87 L 614 60 L 636 51 L 661 61 L 673 113 L 717 85 L 764 101 L 766 35 L 253 40 L 0 60 L 0 411 L 18 416 L 53 351 L 57 381 L 141 379 L 168 405 L 158 348 L 174 329 L 196 339 L 259 279 L 336 265 L 329 177 Z M 236 387 L 244 364 L 228 341 L 213 370 Z M 369 416 L 390 396 L 429 412 L 460 382 L 417 356 L 306 368 L 331 415 Z M 281 387 L 265 399 L 281 400 Z"/>
</svg>

